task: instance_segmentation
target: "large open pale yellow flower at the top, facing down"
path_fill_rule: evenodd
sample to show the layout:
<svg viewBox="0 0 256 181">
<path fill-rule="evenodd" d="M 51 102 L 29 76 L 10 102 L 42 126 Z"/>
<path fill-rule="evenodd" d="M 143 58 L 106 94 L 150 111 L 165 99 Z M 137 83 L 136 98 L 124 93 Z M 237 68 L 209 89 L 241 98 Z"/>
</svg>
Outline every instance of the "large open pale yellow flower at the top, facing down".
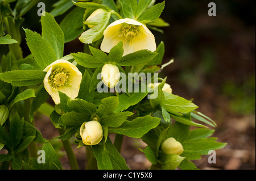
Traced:
<svg viewBox="0 0 256 181">
<path fill-rule="evenodd" d="M 142 49 L 156 50 L 154 35 L 144 24 L 134 19 L 116 20 L 106 28 L 103 35 L 101 50 L 104 52 L 109 52 L 120 41 L 123 41 L 123 56 Z"/>
</svg>

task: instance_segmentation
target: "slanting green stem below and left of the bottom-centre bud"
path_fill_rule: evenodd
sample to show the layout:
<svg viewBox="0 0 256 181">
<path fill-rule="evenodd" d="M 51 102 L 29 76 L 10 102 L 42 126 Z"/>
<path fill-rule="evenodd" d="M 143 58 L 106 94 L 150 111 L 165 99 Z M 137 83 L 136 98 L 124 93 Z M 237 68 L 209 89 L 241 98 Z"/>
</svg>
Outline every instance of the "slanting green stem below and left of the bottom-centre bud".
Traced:
<svg viewBox="0 0 256 181">
<path fill-rule="evenodd" d="M 60 135 L 63 135 L 65 133 L 64 129 L 58 129 Z M 76 156 L 73 152 L 72 145 L 69 140 L 62 140 L 64 149 L 68 155 L 69 164 L 72 170 L 79 170 L 79 166 L 77 164 Z"/>
</svg>

